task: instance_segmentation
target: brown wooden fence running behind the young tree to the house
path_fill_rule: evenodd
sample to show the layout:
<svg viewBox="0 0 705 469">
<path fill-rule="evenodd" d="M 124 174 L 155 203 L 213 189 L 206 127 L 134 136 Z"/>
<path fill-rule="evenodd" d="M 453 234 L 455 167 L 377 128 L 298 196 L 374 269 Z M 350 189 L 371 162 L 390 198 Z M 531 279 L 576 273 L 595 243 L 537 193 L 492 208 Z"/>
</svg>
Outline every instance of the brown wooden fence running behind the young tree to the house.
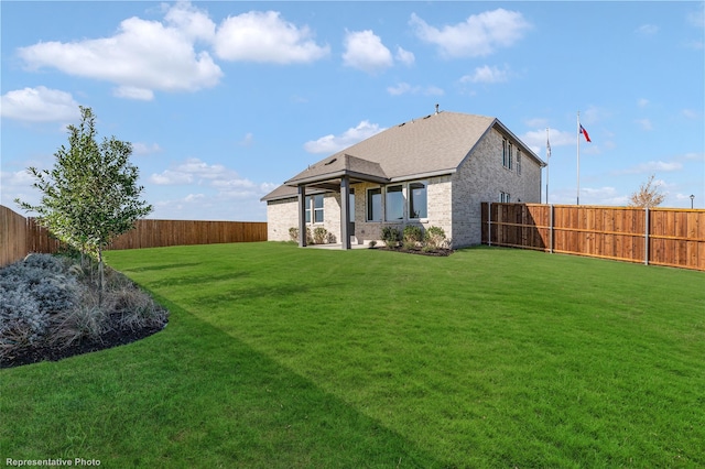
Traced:
<svg viewBox="0 0 705 469">
<path fill-rule="evenodd" d="M 267 241 L 264 221 L 138 220 L 133 230 L 115 239 L 108 249 L 161 248 L 221 242 Z M 0 266 L 29 252 L 54 253 L 62 243 L 48 230 L 0 205 Z"/>
</svg>

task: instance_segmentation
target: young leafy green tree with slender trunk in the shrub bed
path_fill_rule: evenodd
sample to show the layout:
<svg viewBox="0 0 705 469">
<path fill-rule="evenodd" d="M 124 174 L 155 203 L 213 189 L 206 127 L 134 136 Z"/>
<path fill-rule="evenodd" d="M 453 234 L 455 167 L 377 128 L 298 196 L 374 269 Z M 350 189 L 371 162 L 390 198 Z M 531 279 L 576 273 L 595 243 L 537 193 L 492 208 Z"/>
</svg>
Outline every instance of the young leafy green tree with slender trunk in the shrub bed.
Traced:
<svg viewBox="0 0 705 469">
<path fill-rule="evenodd" d="M 131 230 L 134 222 L 152 211 L 140 199 L 139 171 L 130 164 L 132 145 L 115 137 L 96 141 L 96 117 L 80 107 L 82 121 L 68 126 L 68 148 L 54 154 L 52 171 L 29 167 L 42 192 L 40 205 L 15 203 L 39 214 L 37 222 L 56 238 L 98 259 L 102 291 L 102 251 L 115 237 Z"/>
</svg>

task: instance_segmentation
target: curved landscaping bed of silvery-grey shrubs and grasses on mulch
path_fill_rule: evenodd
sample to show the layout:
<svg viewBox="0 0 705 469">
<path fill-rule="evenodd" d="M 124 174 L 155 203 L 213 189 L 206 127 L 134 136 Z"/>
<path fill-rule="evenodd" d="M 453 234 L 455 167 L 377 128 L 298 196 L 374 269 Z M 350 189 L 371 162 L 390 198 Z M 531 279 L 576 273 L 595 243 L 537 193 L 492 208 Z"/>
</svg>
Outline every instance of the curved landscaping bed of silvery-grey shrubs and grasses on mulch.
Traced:
<svg viewBox="0 0 705 469">
<path fill-rule="evenodd" d="M 0 368 L 108 349 L 163 329 L 167 312 L 108 269 L 97 286 L 90 264 L 31 254 L 0 270 Z"/>
</svg>

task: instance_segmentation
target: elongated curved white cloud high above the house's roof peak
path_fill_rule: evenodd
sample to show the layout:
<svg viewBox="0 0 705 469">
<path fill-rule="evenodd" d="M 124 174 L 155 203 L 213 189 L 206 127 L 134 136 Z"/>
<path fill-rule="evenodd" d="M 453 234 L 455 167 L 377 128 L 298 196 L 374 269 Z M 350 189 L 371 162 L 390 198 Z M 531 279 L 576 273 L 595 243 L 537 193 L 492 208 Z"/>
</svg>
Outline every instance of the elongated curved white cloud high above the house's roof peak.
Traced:
<svg viewBox="0 0 705 469">
<path fill-rule="evenodd" d="M 480 57 L 521 40 L 532 25 L 517 11 L 497 9 L 468 17 L 463 23 L 438 29 L 415 13 L 409 23 L 422 41 L 435 44 L 448 58 Z"/>
</svg>

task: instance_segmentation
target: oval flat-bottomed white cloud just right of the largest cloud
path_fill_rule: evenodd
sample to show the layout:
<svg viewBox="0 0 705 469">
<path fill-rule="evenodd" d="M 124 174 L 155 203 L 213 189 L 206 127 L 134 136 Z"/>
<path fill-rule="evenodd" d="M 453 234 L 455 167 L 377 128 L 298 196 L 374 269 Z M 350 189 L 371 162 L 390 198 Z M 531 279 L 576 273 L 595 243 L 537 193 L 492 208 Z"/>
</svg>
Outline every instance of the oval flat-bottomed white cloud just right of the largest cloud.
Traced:
<svg viewBox="0 0 705 469">
<path fill-rule="evenodd" d="M 227 61 L 274 64 L 315 62 L 330 47 L 312 39 L 308 26 L 297 28 L 276 11 L 250 11 L 223 21 L 215 36 L 216 55 Z"/>
</svg>

